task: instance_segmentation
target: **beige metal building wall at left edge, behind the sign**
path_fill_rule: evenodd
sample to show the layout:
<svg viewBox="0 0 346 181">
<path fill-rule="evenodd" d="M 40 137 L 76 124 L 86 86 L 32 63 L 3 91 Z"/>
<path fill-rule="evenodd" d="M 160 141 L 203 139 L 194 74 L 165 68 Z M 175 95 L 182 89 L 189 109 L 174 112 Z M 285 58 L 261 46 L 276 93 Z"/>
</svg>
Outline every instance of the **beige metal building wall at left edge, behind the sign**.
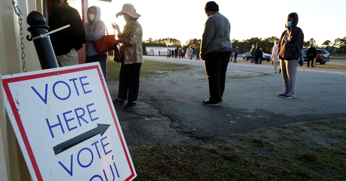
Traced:
<svg viewBox="0 0 346 181">
<path fill-rule="evenodd" d="M 24 18 L 31 11 L 42 13 L 41 0 L 15 0 L 15 2 L 22 10 Z M 12 0 L 1 0 L 0 8 L 0 74 L 21 73 L 23 63 L 19 17 L 13 10 Z M 27 31 L 24 21 L 22 29 L 26 70 L 28 72 L 40 70 L 34 43 L 26 40 L 26 36 L 30 33 Z M 0 83 L 2 85 L 1 77 Z M 9 181 L 29 180 L 30 178 L 15 133 L 5 112 L 2 86 L 0 87 L 0 175 L 0 180 Z"/>
</svg>

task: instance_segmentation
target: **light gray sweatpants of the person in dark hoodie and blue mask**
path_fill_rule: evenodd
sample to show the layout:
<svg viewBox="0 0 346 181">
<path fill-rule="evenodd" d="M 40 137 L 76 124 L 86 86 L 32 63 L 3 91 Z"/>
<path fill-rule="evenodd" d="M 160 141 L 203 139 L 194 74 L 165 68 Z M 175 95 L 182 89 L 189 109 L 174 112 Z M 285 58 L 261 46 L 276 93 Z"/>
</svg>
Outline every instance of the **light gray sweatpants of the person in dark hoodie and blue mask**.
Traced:
<svg viewBox="0 0 346 181">
<path fill-rule="evenodd" d="M 295 83 L 297 80 L 298 60 L 280 60 L 284 90 L 282 94 L 295 98 Z"/>
</svg>

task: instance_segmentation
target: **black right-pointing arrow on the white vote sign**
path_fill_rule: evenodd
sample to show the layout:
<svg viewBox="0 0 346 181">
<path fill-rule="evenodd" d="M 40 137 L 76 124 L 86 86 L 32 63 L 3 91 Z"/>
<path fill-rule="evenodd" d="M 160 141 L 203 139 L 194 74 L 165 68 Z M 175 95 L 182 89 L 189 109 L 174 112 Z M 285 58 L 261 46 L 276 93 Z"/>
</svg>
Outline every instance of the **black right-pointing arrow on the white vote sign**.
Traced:
<svg viewBox="0 0 346 181">
<path fill-rule="evenodd" d="M 81 135 L 78 135 L 72 139 L 69 139 L 63 143 L 56 145 L 55 147 L 53 147 L 55 155 L 65 151 L 65 150 L 85 141 L 85 140 L 88 140 L 89 138 L 92 138 L 97 134 L 101 134 L 101 136 L 102 136 L 103 133 L 106 132 L 106 130 L 108 129 L 109 126 L 110 126 L 110 124 L 97 124 L 96 128 L 94 128 L 90 131 L 87 131 Z"/>
</svg>

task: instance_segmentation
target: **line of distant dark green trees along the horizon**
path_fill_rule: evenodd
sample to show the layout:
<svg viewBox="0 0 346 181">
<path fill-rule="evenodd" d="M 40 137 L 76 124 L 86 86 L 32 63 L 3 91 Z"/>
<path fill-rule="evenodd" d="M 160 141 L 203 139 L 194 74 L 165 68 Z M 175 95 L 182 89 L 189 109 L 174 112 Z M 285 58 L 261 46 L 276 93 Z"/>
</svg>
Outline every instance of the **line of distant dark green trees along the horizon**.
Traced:
<svg viewBox="0 0 346 181">
<path fill-rule="evenodd" d="M 271 49 L 274 46 L 274 42 L 279 40 L 277 37 L 270 37 L 270 38 L 251 38 L 246 39 L 243 41 L 239 41 L 236 39 L 231 40 L 233 48 L 236 46 L 239 46 L 239 53 L 246 53 L 250 51 L 252 48 L 252 45 L 260 46 L 263 49 L 263 52 L 271 54 Z M 337 38 L 334 40 L 334 42 L 331 42 L 330 40 L 326 40 L 323 43 L 321 43 L 321 47 L 318 47 L 316 44 L 317 41 L 314 38 L 311 38 L 308 41 L 303 42 L 303 48 L 309 48 L 311 43 L 315 43 L 316 48 L 325 48 L 330 53 L 346 53 L 346 37 L 344 38 Z M 177 47 L 177 48 L 183 48 L 188 49 L 191 46 L 198 47 L 201 44 L 201 39 L 189 39 L 186 41 L 183 45 L 180 40 L 177 40 L 175 38 L 161 38 L 158 40 L 154 40 L 152 38 L 149 38 L 148 40 L 143 41 L 143 54 L 145 54 L 145 47 Z"/>
</svg>

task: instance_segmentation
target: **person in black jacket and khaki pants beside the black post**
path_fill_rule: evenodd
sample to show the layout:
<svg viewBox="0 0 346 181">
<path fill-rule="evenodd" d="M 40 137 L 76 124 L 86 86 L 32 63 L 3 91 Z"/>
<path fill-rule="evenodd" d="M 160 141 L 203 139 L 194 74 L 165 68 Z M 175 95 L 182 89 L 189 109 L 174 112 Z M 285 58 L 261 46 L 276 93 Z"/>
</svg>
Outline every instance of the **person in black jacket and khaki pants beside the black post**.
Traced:
<svg viewBox="0 0 346 181">
<path fill-rule="evenodd" d="M 53 50 L 59 67 L 78 65 L 77 51 L 85 43 L 85 30 L 79 12 L 69 6 L 67 0 L 52 0 L 53 12 L 49 18 L 49 28 L 56 30 L 67 24 L 70 27 L 55 32 L 51 36 Z"/>
</svg>

